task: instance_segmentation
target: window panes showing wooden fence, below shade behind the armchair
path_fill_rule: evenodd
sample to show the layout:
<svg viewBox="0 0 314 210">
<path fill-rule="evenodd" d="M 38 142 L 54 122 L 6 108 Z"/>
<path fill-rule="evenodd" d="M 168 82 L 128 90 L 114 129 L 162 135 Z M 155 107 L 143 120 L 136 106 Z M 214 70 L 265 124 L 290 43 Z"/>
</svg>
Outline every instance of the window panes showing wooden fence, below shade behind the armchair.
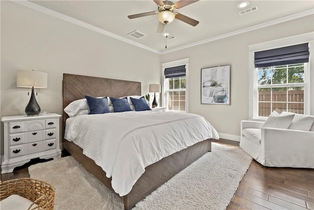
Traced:
<svg viewBox="0 0 314 210">
<path fill-rule="evenodd" d="M 306 63 L 257 68 L 258 117 L 272 111 L 304 114 Z"/>
</svg>

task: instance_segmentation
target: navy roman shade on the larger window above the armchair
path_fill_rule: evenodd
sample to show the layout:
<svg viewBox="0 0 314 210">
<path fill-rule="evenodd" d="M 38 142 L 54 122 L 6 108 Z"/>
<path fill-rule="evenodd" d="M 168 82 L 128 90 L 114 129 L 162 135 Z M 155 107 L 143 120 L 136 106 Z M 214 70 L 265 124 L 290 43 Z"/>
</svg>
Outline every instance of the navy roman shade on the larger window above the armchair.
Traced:
<svg viewBox="0 0 314 210">
<path fill-rule="evenodd" d="M 309 43 L 254 53 L 255 68 L 309 62 Z"/>
</svg>

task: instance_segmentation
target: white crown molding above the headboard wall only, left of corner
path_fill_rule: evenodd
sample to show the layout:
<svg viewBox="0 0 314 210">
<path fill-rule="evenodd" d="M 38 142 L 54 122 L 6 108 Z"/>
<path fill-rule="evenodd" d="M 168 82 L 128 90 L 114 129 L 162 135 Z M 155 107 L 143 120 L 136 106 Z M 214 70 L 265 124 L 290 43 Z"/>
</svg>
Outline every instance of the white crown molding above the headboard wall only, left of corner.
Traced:
<svg viewBox="0 0 314 210">
<path fill-rule="evenodd" d="M 73 24 L 76 24 L 78 26 L 81 26 L 81 27 L 84 27 L 86 29 L 89 29 L 89 30 L 93 30 L 93 31 L 96 31 L 96 32 L 99 32 L 99 33 L 102 33 L 104 35 L 107 35 L 107 36 L 110 36 L 112 38 L 115 38 L 115 39 L 118 39 L 120 41 L 123 41 L 123 42 L 126 42 L 126 43 L 129 43 L 129 44 L 132 44 L 132 45 L 135 45 L 137 47 L 140 47 L 140 48 L 143 48 L 145 50 L 149 50 L 149 51 L 152 51 L 154 53 L 157 53 L 157 54 L 161 54 L 160 51 L 158 50 L 155 50 L 153 48 L 150 48 L 150 47 L 147 47 L 145 45 L 142 45 L 142 44 L 139 44 L 137 42 L 134 42 L 130 39 L 127 39 L 127 38 L 124 38 L 122 36 L 119 36 L 119 35 L 116 35 L 114 33 L 111 33 L 109 31 L 106 31 L 106 30 L 103 30 L 101 28 L 98 28 L 96 26 L 93 26 L 91 24 L 88 24 L 88 23 L 85 23 L 83 21 L 80 21 L 78 19 L 75 19 L 75 18 L 72 18 L 70 16 L 67 16 L 67 15 L 64 15 L 62 13 L 59 13 L 59 12 L 56 12 L 52 9 L 48 9 L 47 7 L 44 7 L 44 6 L 41 6 L 41 5 L 38 5 L 36 3 L 33 3 L 31 1 L 28 1 L 28 0 L 11 0 L 12 2 L 15 2 L 15 3 L 18 3 L 18 4 L 21 4 L 23 6 L 26 6 L 28 8 L 31 8 L 31 9 L 34 9 L 34 10 L 37 10 L 39 12 L 43 12 L 43 13 L 46 13 L 48 15 L 51 15 L 53 17 L 56 17 L 56 18 L 59 18 L 61 20 L 64 20 L 64 21 L 67 21 L 67 22 L 70 22 L 70 23 L 73 23 Z"/>
</svg>

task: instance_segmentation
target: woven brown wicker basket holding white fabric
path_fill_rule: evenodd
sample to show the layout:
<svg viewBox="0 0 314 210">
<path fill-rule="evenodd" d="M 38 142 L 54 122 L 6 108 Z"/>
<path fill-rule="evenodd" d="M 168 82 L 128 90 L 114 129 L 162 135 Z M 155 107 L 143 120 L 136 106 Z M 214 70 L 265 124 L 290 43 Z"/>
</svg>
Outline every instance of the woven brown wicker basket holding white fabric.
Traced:
<svg viewBox="0 0 314 210">
<path fill-rule="evenodd" d="M 54 188 L 51 184 L 30 178 L 0 181 L 0 200 L 16 194 L 27 198 L 37 207 L 31 204 L 28 210 L 53 210 L 54 209 Z"/>
</svg>

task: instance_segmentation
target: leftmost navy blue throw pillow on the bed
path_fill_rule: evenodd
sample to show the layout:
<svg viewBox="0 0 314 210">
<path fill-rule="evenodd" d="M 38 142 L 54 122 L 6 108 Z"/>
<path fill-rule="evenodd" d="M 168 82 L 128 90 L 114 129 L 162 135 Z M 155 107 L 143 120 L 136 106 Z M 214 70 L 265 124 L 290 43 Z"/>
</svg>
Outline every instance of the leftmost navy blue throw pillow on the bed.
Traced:
<svg viewBox="0 0 314 210">
<path fill-rule="evenodd" d="M 89 113 L 88 113 L 89 115 L 104 114 L 104 113 L 110 112 L 110 109 L 108 106 L 108 99 L 106 97 L 95 98 L 92 96 L 85 95 L 85 98 L 89 106 Z"/>
</svg>

